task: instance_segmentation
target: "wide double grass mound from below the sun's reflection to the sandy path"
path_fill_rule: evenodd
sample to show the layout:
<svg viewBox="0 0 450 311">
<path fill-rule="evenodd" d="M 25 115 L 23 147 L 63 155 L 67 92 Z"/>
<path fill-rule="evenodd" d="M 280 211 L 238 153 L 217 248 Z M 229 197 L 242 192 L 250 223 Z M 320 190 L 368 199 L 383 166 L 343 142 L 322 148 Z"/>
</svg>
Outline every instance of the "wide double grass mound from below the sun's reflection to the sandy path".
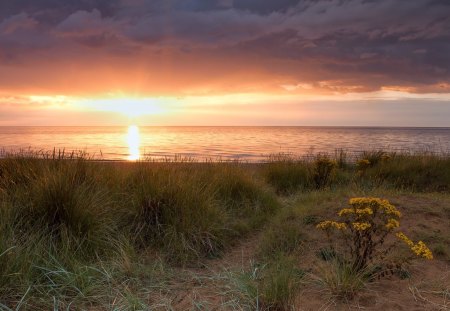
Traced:
<svg viewBox="0 0 450 311">
<path fill-rule="evenodd" d="M 264 185 L 236 164 L 141 163 L 124 181 L 124 225 L 137 247 L 175 263 L 220 255 L 278 208 Z"/>
</svg>

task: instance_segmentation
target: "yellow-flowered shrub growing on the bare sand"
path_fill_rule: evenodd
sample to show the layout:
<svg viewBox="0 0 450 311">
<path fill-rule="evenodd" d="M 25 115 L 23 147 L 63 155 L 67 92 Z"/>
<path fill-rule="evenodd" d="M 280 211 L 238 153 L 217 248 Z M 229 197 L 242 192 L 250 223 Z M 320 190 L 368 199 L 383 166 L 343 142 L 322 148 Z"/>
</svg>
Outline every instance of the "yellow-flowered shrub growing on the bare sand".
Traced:
<svg viewBox="0 0 450 311">
<path fill-rule="evenodd" d="M 400 226 L 400 212 L 389 201 L 379 198 L 352 198 L 350 208 L 343 208 L 338 215 L 342 222 L 326 220 L 317 225 L 325 230 L 329 239 L 332 230 L 338 230 L 346 243 L 346 252 L 355 271 L 367 267 L 375 257 L 384 257 L 390 248 L 382 250 L 386 237 Z M 432 253 L 422 241 L 413 243 L 402 232 L 396 236 L 404 241 L 420 257 L 432 259 Z"/>
</svg>

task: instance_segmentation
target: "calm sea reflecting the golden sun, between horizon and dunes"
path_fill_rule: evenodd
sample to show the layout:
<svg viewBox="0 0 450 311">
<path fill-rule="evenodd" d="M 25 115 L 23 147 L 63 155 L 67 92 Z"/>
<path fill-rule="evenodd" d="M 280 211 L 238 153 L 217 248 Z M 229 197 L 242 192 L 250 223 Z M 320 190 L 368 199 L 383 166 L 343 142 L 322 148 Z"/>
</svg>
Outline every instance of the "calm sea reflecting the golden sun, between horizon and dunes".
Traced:
<svg viewBox="0 0 450 311">
<path fill-rule="evenodd" d="M 362 150 L 450 152 L 450 128 L 0 127 L 0 149 L 82 150 L 105 160 L 193 157 L 262 161 L 269 154 Z"/>
</svg>

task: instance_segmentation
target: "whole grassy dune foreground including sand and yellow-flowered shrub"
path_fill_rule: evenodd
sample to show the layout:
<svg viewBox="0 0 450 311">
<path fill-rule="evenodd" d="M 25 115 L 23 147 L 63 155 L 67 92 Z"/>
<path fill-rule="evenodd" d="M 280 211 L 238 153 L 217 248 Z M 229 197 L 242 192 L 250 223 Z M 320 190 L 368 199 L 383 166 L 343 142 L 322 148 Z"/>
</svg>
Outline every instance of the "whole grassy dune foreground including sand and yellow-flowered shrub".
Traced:
<svg viewBox="0 0 450 311">
<path fill-rule="evenodd" d="M 0 159 L 0 309 L 292 310 L 448 266 L 443 155 L 179 160 Z"/>
</svg>

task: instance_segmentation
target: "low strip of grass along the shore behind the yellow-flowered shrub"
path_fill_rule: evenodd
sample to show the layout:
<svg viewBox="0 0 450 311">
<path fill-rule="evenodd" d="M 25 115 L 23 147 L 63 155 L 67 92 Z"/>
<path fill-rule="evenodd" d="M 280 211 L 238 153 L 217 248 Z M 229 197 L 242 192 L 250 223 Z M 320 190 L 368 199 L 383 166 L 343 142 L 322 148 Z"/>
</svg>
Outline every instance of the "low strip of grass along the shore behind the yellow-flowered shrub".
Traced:
<svg viewBox="0 0 450 311">
<path fill-rule="evenodd" d="M 383 185 L 414 191 L 447 192 L 450 190 L 449 168 L 450 157 L 445 155 L 374 150 L 351 158 L 340 150 L 334 156 L 272 156 L 261 169 L 261 175 L 278 194 L 284 195 L 352 183 L 365 188 Z"/>
</svg>

